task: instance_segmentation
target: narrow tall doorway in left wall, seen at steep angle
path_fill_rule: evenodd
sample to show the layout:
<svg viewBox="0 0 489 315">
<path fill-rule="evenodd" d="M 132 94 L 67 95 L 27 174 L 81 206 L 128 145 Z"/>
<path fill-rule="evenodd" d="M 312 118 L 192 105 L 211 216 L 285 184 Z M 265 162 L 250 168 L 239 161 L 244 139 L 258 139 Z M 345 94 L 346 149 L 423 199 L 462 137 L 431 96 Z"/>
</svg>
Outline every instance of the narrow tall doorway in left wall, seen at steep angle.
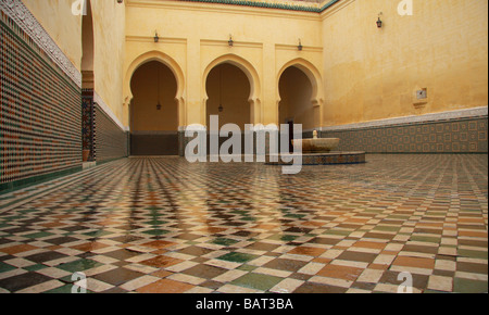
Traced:
<svg viewBox="0 0 489 315">
<path fill-rule="evenodd" d="M 85 2 L 87 14 L 82 18 L 82 149 L 83 161 L 96 161 L 95 150 L 95 40 L 91 4 Z"/>
</svg>

